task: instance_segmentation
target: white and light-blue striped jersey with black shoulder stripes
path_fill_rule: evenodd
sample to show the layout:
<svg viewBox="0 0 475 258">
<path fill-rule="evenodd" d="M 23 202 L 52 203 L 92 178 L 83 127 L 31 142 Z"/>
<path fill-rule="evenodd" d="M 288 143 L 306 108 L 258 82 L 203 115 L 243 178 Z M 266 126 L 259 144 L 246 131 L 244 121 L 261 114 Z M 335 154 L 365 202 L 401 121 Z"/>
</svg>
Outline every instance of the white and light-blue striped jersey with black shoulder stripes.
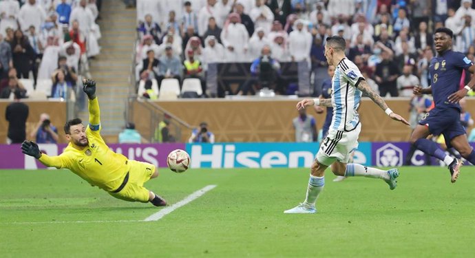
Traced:
<svg viewBox="0 0 475 258">
<path fill-rule="evenodd" d="M 348 58 L 343 58 L 335 67 L 332 78 L 332 106 L 333 118 L 331 129 L 352 131 L 359 124 L 359 100 L 362 92 L 358 84 L 365 78 L 358 67 Z"/>
</svg>

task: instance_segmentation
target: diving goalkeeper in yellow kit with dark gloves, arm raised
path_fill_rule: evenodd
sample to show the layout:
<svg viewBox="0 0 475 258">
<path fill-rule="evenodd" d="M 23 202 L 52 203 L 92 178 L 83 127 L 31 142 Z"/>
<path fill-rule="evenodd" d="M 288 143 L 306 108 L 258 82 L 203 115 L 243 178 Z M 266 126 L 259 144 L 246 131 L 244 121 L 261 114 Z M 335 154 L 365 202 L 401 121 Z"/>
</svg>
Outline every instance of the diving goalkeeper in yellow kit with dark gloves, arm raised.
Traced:
<svg viewBox="0 0 475 258">
<path fill-rule="evenodd" d="M 66 122 L 64 131 L 69 144 L 64 152 L 50 156 L 41 153 L 38 145 L 30 141 L 21 144 L 22 152 L 45 166 L 69 169 L 92 186 L 98 186 L 118 199 L 166 206 L 167 202 L 162 197 L 143 186 L 149 179 L 158 177 L 158 169 L 153 164 L 129 160 L 115 153 L 101 137 L 96 82 L 83 80 L 83 91 L 89 98 L 89 125 L 85 127 L 79 118 Z"/>
</svg>

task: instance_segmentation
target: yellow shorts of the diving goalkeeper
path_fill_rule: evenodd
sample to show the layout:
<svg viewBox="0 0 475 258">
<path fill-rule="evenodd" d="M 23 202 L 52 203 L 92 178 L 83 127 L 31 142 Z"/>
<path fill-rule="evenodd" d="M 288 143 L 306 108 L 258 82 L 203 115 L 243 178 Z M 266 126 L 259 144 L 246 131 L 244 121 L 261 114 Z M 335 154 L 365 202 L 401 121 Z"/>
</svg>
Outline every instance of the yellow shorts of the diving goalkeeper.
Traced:
<svg viewBox="0 0 475 258">
<path fill-rule="evenodd" d="M 149 190 L 143 187 L 151 175 L 155 173 L 155 166 L 147 162 L 129 160 L 129 180 L 118 193 L 109 192 L 110 195 L 128 202 L 149 202 Z"/>
</svg>

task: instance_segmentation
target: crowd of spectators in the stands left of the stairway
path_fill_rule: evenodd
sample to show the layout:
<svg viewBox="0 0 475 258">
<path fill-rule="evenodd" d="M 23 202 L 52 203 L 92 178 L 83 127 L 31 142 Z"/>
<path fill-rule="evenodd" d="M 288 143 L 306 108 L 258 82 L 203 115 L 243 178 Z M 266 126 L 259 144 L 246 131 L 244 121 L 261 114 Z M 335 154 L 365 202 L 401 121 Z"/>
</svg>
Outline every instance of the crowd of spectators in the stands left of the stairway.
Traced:
<svg viewBox="0 0 475 258">
<path fill-rule="evenodd" d="M 98 0 L 1 0 L 0 97 L 74 99 L 80 69 L 100 52 Z"/>
</svg>

